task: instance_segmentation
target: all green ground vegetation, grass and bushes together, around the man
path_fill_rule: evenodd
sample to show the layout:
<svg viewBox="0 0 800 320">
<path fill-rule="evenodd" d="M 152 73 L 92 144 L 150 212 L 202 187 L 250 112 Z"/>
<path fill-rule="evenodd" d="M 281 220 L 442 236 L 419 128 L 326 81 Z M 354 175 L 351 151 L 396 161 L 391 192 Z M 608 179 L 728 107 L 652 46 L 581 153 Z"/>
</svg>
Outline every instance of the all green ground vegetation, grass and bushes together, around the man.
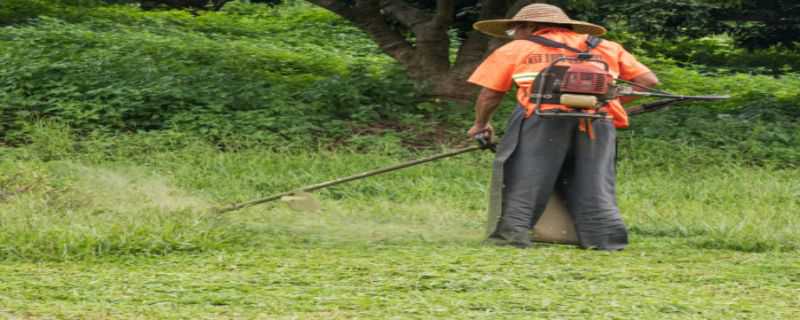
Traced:
<svg viewBox="0 0 800 320">
<path fill-rule="evenodd" d="M 425 94 L 328 10 L 5 0 L 0 24 L 0 316 L 800 313 L 790 46 L 612 28 L 664 89 L 732 98 L 642 115 L 620 132 L 632 245 L 602 253 L 482 245 L 488 152 L 321 191 L 316 213 L 211 214 L 472 143 L 469 105 Z"/>
</svg>

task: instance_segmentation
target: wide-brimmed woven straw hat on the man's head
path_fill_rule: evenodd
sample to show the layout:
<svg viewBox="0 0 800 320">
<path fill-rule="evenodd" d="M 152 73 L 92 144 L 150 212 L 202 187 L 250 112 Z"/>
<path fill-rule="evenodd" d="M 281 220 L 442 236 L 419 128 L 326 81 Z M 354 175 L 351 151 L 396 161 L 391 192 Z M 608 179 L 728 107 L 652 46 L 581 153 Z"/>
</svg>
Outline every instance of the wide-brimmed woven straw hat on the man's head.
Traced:
<svg viewBox="0 0 800 320">
<path fill-rule="evenodd" d="M 571 27 L 577 33 L 601 36 L 606 33 L 606 28 L 596 24 L 572 20 L 564 13 L 564 10 L 554 5 L 544 3 L 534 3 L 519 9 L 519 12 L 511 19 L 494 19 L 475 22 L 473 28 L 476 30 L 498 38 L 508 38 L 507 30 L 519 22 L 540 22 L 555 23 L 565 27 Z"/>
</svg>

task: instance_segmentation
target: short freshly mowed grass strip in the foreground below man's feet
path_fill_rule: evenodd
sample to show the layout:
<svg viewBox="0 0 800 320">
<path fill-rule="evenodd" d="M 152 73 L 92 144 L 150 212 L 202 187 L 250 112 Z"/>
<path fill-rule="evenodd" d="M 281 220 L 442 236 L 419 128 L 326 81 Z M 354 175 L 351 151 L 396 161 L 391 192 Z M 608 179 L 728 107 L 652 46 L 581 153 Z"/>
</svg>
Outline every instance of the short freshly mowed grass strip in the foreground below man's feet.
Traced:
<svg viewBox="0 0 800 320">
<path fill-rule="evenodd" d="M 800 258 L 635 237 L 623 252 L 262 239 L 164 257 L 0 265 L 14 318 L 796 319 Z"/>
</svg>

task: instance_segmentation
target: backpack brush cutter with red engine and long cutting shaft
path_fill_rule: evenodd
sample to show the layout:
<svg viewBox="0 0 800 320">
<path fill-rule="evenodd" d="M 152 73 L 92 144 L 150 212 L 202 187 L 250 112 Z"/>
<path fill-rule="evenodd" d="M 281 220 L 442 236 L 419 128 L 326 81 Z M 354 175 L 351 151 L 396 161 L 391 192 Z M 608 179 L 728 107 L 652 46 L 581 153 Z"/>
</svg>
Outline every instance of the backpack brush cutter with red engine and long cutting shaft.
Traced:
<svg viewBox="0 0 800 320">
<path fill-rule="evenodd" d="M 595 60 L 590 59 L 587 61 L 594 62 Z M 605 104 L 605 102 L 610 101 L 611 99 L 614 99 L 619 96 L 635 95 L 635 96 L 651 96 L 651 97 L 665 98 L 652 103 L 642 104 L 639 106 L 626 109 L 628 115 L 630 116 L 667 108 L 671 104 L 676 102 L 690 101 L 690 100 L 720 100 L 728 98 L 728 96 L 675 95 L 665 91 L 644 88 L 641 86 L 637 86 L 636 84 L 633 83 L 617 80 L 623 83 L 627 83 L 631 86 L 639 87 L 640 89 L 646 90 L 646 91 L 635 91 L 632 89 L 632 87 L 623 87 L 615 85 L 613 79 L 611 79 L 607 75 L 606 70 L 600 68 L 593 68 L 592 66 L 587 66 L 582 63 L 574 64 L 567 68 L 555 65 L 551 65 L 551 67 L 552 68 L 548 67 L 547 69 L 554 69 L 555 72 L 553 74 L 555 74 L 556 76 L 550 75 L 550 70 L 545 70 L 546 72 L 543 72 L 543 74 L 548 74 L 548 77 L 546 78 L 546 81 L 540 81 L 540 83 L 543 83 L 543 85 L 540 85 L 540 88 L 545 88 L 548 90 L 538 91 L 538 92 L 549 92 L 549 93 L 541 94 L 536 97 L 532 96 L 532 100 L 535 99 L 536 101 L 537 114 L 540 114 L 544 117 L 548 116 L 574 117 L 574 118 L 583 118 L 589 120 L 592 118 L 601 118 L 601 117 L 605 118 L 607 116 L 604 115 L 602 112 L 600 112 L 598 109 L 602 107 L 602 105 Z M 549 81 L 549 84 L 546 83 L 547 81 Z M 547 103 L 548 101 L 553 101 L 551 99 L 558 99 L 557 102 L 554 103 L 565 104 L 578 110 L 576 110 L 575 112 L 558 112 L 558 113 L 544 112 L 544 111 L 539 112 L 538 108 L 540 104 L 542 102 Z M 478 142 L 478 145 L 476 146 L 461 148 L 450 152 L 433 155 L 427 158 L 412 160 L 381 169 L 366 171 L 335 180 L 308 185 L 297 188 L 295 190 L 274 194 L 265 198 L 260 198 L 247 202 L 231 204 L 225 207 L 215 208 L 214 212 L 221 214 L 276 200 L 281 200 L 282 202 L 287 203 L 290 208 L 295 210 L 318 211 L 320 209 L 320 204 L 319 201 L 317 201 L 317 199 L 315 199 L 314 196 L 310 193 L 312 191 L 413 167 L 431 161 L 442 160 L 472 151 L 485 150 L 485 149 L 489 149 L 493 152 L 495 151 L 495 143 L 492 141 L 491 137 L 488 137 L 484 134 L 479 134 L 478 136 L 475 137 L 475 139 Z M 534 241 L 549 242 L 549 243 L 564 243 L 564 244 L 577 243 L 577 237 L 575 235 L 575 226 L 573 219 L 567 212 L 566 207 L 563 204 L 563 201 L 558 197 L 558 195 L 553 195 L 551 197 L 550 201 L 547 204 L 545 212 L 539 218 L 539 221 L 536 223 L 536 226 L 534 226 L 533 232 L 534 232 L 534 238 L 533 238 Z"/>
</svg>

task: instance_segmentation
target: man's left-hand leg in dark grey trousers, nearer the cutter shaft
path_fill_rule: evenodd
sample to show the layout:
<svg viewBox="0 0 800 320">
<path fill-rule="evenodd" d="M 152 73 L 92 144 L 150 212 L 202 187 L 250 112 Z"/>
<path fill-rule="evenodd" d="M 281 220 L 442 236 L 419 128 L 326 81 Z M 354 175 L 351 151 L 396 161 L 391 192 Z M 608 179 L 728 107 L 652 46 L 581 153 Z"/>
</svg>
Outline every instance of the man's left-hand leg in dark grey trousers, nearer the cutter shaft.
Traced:
<svg viewBox="0 0 800 320">
<path fill-rule="evenodd" d="M 504 166 L 502 216 L 491 238 L 531 244 L 530 228 L 547 205 L 576 127 L 573 119 L 536 116 L 522 123 L 519 143 Z"/>
</svg>

